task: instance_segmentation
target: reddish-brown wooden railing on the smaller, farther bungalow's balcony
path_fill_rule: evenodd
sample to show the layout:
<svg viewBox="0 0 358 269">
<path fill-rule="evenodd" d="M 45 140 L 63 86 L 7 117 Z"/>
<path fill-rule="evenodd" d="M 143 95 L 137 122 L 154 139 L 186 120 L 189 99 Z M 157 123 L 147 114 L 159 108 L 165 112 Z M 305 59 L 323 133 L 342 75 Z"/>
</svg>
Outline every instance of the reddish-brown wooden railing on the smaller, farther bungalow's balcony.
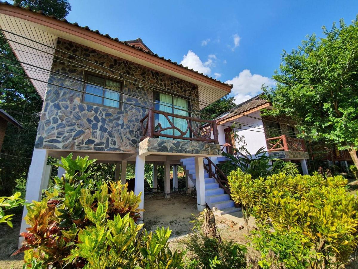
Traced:
<svg viewBox="0 0 358 269">
<path fill-rule="evenodd" d="M 300 138 L 292 138 L 286 135 L 266 139 L 268 151 L 306 151 L 305 142 Z"/>
</svg>

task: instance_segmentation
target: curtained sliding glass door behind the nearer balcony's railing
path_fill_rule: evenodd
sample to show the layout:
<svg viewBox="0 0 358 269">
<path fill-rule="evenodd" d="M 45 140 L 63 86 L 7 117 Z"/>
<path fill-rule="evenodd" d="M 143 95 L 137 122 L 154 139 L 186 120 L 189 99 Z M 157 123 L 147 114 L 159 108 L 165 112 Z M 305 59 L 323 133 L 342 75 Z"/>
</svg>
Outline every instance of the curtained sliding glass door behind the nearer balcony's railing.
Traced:
<svg viewBox="0 0 358 269">
<path fill-rule="evenodd" d="M 189 117 L 189 101 L 185 100 L 183 98 L 179 98 L 177 96 L 172 96 L 165 93 L 158 93 L 154 92 L 154 108 L 156 110 L 160 110 L 163 112 L 181 115 L 184 117 Z M 181 131 L 185 132 L 188 128 L 188 123 L 186 119 L 180 119 L 175 117 L 169 117 L 169 120 L 173 122 L 174 126 L 176 128 L 179 128 Z M 168 122 L 168 120 L 165 118 L 164 115 L 161 114 L 155 114 L 155 130 L 159 129 L 159 123 L 162 127 L 162 129 L 170 127 L 171 124 Z M 168 129 L 161 132 L 165 135 L 174 135 L 179 136 L 181 133 L 176 129 Z M 184 137 L 190 137 L 190 131 L 188 131 Z M 172 139 L 169 137 L 161 137 L 164 139 Z"/>
</svg>

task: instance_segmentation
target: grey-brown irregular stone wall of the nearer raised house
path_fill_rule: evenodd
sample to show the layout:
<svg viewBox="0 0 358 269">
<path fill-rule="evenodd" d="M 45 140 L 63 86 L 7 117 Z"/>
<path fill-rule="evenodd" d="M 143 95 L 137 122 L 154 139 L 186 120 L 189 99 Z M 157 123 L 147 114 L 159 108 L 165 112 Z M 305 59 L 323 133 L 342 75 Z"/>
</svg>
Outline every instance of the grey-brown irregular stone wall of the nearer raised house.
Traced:
<svg viewBox="0 0 358 269">
<path fill-rule="evenodd" d="M 84 68 L 72 65 L 71 62 L 60 57 L 76 61 L 78 65 L 82 64 L 105 71 L 122 79 L 132 80 L 126 76 L 129 75 L 160 88 L 168 89 L 173 93 L 182 94 L 189 98 L 199 98 L 197 85 L 190 82 L 147 69 L 129 61 L 101 54 L 94 49 L 65 40 L 58 39 L 57 48 L 104 66 L 99 67 L 65 52 L 56 51 L 52 71 L 63 75 L 84 79 Z M 110 71 L 105 67 L 126 75 Z M 50 75 L 49 82 L 71 89 L 81 91 L 83 89 L 80 81 L 55 73 Z M 129 104 L 122 104 L 120 110 L 96 107 L 81 103 L 80 92 L 61 86 L 48 84 L 35 148 L 136 152 L 139 140 L 142 137 L 139 121 L 148 110 L 129 104 L 151 107 L 152 102 L 124 95 L 123 101 Z M 138 84 L 131 81 L 124 81 L 123 91 L 153 100 L 152 89 L 144 86 L 140 88 Z M 191 100 L 190 104 L 194 113 L 199 111 L 198 103 Z"/>
</svg>

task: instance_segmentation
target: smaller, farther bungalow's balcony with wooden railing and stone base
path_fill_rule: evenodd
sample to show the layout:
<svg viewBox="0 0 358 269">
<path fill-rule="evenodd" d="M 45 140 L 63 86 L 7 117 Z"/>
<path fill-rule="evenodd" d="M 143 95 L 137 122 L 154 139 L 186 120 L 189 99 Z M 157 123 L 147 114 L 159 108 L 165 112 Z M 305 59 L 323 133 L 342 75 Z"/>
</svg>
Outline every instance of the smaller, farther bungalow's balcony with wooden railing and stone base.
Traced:
<svg viewBox="0 0 358 269">
<path fill-rule="evenodd" d="M 280 159 L 308 159 L 303 139 L 281 135 L 266 138 L 266 143 L 269 154 Z"/>
</svg>

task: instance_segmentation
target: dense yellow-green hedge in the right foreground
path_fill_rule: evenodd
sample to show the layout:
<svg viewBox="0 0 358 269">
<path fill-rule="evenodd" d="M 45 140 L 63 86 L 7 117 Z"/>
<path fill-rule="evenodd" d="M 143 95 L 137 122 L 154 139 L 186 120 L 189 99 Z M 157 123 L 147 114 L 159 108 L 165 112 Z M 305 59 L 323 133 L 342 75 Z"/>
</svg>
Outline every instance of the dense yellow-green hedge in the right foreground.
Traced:
<svg viewBox="0 0 358 269">
<path fill-rule="evenodd" d="M 238 169 L 230 174 L 229 184 L 236 202 L 244 207 L 250 205 L 253 216 L 263 223 L 271 222 L 274 232 L 267 229 L 254 232 L 254 237 L 258 237 L 253 239 L 257 249 L 262 246 L 270 249 L 280 238 L 289 240 L 282 241 L 282 247 L 271 248 L 277 262 L 285 263 L 287 268 L 296 268 L 293 264 L 297 257 L 302 257 L 303 263 L 309 263 L 311 268 L 337 267 L 357 247 L 358 202 L 346 192 L 347 180 L 342 176 L 280 173 L 266 179 L 251 179 Z M 296 240 L 303 247 L 296 248 L 300 251 L 297 257 L 292 251 L 292 247 L 300 245 Z M 262 264 L 270 264 L 265 259 L 265 249 L 261 251 Z"/>
</svg>

